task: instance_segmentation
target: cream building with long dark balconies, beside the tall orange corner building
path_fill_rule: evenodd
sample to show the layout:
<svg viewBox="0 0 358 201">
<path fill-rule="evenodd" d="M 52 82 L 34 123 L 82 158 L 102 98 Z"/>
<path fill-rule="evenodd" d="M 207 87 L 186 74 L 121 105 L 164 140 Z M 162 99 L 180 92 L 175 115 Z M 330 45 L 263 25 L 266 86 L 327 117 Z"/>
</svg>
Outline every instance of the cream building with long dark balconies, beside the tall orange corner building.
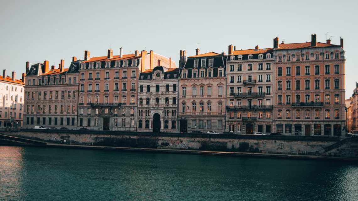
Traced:
<svg viewBox="0 0 358 201">
<path fill-rule="evenodd" d="M 273 48 L 236 50 L 226 60 L 226 129 L 237 134 L 272 131 Z"/>
</svg>

